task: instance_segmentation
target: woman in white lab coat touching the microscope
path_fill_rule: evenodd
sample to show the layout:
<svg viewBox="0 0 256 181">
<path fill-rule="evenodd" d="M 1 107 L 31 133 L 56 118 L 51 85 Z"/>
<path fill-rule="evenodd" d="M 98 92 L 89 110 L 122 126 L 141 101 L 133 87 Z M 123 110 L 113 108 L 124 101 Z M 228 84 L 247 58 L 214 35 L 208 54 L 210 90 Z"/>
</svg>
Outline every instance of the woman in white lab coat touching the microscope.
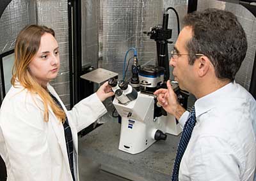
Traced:
<svg viewBox="0 0 256 181">
<path fill-rule="evenodd" d="M 67 111 L 49 85 L 60 69 L 54 31 L 29 25 L 17 37 L 12 88 L 0 111 L 0 154 L 7 180 L 79 180 L 77 132 L 106 113 L 104 83 Z"/>
</svg>

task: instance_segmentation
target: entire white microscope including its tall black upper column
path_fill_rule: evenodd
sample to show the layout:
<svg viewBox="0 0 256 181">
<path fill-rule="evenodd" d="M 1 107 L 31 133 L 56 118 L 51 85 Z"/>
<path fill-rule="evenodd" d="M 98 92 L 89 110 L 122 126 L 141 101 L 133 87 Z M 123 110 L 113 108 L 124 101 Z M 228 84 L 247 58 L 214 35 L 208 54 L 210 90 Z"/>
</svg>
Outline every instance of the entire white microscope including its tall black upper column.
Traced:
<svg viewBox="0 0 256 181">
<path fill-rule="evenodd" d="M 157 89 L 166 88 L 165 82 L 170 77 L 167 43 L 170 43 L 168 39 L 172 37 L 172 29 L 167 29 L 167 10 L 163 26 L 154 27 L 147 33 L 156 41 L 158 65 L 141 68 L 137 54 L 134 54 L 131 80 L 108 80 L 115 92 L 113 105 L 121 117 L 118 148 L 130 154 L 143 152 L 157 140 L 166 140 L 166 133 L 178 135 L 182 131 L 179 122 L 157 104 L 153 94 Z M 172 83 L 172 88 L 180 103 L 186 106 L 186 95 L 179 89 L 178 83 Z"/>
</svg>

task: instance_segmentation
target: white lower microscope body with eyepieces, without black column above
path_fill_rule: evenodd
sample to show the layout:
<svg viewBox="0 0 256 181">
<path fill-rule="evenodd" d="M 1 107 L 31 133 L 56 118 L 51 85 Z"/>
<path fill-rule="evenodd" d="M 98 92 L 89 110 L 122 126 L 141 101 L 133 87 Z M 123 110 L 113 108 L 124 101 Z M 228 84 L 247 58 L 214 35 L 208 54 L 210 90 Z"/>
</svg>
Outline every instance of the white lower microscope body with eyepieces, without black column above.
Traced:
<svg viewBox="0 0 256 181">
<path fill-rule="evenodd" d="M 113 105 L 122 117 L 118 148 L 130 154 L 146 150 L 157 140 L 166 140 L 166 133 L 178 135 L 182 129 L 175 117 L 157 105 L 154 94 L 136 91 L 129 83 L 109 79 L 115 92 Z M 173 85 L 176 91 L 178 85 Z"/>
</svg>

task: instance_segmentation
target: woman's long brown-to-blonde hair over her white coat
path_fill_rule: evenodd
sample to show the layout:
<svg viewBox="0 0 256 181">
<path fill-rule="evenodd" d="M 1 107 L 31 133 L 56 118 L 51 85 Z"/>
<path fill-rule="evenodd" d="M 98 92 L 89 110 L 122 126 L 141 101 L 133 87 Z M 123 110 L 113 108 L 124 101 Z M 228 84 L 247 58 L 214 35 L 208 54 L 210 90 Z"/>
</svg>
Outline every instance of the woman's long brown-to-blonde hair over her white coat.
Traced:
<svg viewBox="0 0 256 181">
<path fill-rule="evenodd" d="M 40 47 L 40 40 L 43 34 L 50 33 L 55 36 L 51 28 L 41 25 L 29 25 L 20 31 L 15 42 L 15 62 L 12 68 L 11 83 L 15 87 L 15 82 L 28 89 L 33 94 L 38 94 L 44 103 L 44 121 L 49 120 L 48 105 L 56 117 L 64 122 L 66 115 L 61 108 L 54 103 L 49 93 L 38 83 L 28 71 L 28 65 L 33 60 Z"/>
</svg>

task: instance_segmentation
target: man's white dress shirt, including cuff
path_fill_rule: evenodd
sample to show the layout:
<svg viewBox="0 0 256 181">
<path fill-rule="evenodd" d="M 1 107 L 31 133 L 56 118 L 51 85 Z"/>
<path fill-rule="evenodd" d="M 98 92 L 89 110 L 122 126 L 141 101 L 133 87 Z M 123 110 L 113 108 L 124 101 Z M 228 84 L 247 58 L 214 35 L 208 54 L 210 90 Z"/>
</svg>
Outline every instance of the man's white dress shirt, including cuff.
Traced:
<svg viewBox="0 0 256 181">
<path fill-rule="evenodd" d="M 236 82 L 195 102 L 196 126 L 182 157 L 179 180 L 253 180 L 256 101 Z M 184 126 L 188 112 L 180 117 Z"/>
</svg>

